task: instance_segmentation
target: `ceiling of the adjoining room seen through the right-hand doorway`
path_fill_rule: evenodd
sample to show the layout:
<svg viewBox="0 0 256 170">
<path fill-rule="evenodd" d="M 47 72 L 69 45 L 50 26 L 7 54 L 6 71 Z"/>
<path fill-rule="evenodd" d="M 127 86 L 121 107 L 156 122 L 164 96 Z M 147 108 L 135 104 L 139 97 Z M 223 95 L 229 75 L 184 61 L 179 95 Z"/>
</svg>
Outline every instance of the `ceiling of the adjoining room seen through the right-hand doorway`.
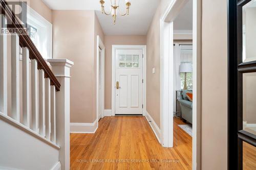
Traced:
<svg viewBox="0 0 256 170">
<path fill-rule="evenodd" d="M 174 20 L 174 30 L 193 30 L 193 0 L 188 1 Z"/>
</svg>

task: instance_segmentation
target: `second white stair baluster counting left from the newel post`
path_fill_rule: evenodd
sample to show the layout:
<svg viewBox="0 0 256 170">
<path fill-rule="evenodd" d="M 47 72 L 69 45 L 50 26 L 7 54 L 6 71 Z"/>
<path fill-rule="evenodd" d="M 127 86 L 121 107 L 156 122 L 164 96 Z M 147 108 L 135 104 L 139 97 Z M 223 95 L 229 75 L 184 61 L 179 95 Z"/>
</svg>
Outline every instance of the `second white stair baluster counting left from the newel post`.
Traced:
<svg viewBox="0 0 256 170">
<path fill-rule="evenodd" d="M 46 138 L 51 139 L 51 83 L 46 79 Z"/>
</svg>

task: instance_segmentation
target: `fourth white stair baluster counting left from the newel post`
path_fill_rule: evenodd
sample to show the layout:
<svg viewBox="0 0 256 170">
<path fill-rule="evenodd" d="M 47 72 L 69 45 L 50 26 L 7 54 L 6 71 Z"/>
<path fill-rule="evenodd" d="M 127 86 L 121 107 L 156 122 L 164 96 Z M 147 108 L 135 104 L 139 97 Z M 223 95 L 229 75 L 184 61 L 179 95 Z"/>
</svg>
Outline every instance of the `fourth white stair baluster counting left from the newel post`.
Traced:
<svg viewBox="0 0 256 170">
<path fill-rule="evenodd" d="M 38 117 L 38 70 L 37 61 L 31 60 L 31 117 L 32 130 L 39 133 L 39 117 Z"/>
</svg>

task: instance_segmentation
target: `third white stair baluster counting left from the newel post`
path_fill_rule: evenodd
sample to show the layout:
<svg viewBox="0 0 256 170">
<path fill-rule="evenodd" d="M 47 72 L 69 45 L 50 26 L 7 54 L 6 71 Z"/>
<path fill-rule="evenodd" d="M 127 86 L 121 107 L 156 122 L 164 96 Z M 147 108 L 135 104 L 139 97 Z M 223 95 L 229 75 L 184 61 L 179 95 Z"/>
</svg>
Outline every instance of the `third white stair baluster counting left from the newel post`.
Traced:
<svg viewBox="0 0 256 170">
<path fill-rule="evenodd" d="M 46 136 L 45 71 L 39 70 L 39 134 Z"/>
</svg>

